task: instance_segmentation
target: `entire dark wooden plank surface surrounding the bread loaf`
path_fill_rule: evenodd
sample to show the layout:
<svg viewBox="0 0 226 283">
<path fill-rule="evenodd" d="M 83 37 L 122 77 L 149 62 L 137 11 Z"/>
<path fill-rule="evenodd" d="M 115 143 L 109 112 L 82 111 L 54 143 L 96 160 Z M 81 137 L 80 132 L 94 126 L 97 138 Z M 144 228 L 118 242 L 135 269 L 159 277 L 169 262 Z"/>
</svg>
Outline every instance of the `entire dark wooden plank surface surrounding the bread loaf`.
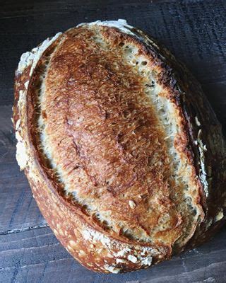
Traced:
<svg viewBox="0 0 226 283">
<path fill-rule="evenodd" d="M 226 282 L 226 229 L 148 270 L 100 275 L 64 250 L 15 159 L 13 74 L 20 54 L 84 21 L 126 18 L 191 69 L 226 130 L 226 1 L 0 1 L 0 282 Z M 194 94 L 195 95 L 195 94 Z"/>
</svg>

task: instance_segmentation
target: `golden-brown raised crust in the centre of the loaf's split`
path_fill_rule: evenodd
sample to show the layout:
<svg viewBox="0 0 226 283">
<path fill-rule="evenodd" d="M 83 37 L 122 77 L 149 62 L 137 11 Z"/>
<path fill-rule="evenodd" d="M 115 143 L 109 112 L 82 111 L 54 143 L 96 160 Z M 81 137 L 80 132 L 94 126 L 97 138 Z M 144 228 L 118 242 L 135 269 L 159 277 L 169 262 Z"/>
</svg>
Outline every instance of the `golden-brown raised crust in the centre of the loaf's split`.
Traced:
<svg viewBox="0 0 226 283">
<path fill-rule="evenodd" d="M 95 42 L 95 31 L 66 35 L 49 62 L 40 121 L 66 193 L 121 236 L 174 242 L 181 216 L 169 198 L 164 134 L 141 79 L 117 44 Z"/>
</svg>

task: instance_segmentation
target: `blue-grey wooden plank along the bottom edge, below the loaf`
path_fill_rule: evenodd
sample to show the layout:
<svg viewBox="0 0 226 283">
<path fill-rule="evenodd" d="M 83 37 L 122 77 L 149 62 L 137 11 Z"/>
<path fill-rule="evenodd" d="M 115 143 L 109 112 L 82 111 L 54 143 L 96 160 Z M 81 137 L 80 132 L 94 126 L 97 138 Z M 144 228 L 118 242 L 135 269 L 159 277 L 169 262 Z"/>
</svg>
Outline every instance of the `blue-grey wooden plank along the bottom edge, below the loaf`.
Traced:
<svg viewBox="0 0 226 283">
<path fill-rule="evenodd" d="M 148 270 L 100 275 L 73 260 L 49 228 L 11 233 L 0 237 L 0 279 L 7 275 L 4 282 L 225 282 L 225 235 L 223 229 L 201 248 Z"/>
</svg>

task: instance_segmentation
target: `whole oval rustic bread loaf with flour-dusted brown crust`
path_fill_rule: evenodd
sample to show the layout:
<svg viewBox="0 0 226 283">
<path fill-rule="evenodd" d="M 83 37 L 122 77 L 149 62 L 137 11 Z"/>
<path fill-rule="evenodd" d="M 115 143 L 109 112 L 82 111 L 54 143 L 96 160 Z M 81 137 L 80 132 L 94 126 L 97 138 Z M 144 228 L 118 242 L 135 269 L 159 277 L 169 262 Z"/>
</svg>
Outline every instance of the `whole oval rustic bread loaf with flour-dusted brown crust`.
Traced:
<svg viewBox="0 0 226 283">
<path fill-rule="evenodd" d="M 154 265 L 225 221 L 225 141 L 201 86 L 124 20 L 23 54 L 13 121 L 37 205 L 90 270 Z"/>
</svg>

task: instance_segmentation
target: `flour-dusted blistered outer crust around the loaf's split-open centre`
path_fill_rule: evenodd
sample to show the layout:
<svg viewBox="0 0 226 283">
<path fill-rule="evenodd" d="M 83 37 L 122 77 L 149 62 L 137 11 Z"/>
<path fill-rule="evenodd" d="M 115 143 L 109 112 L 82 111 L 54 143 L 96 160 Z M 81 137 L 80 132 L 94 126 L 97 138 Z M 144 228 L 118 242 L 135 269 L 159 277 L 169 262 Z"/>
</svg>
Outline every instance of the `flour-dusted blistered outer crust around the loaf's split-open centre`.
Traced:
<svg viewBox="0 0 226 283">
<path fill-rule="evenodd" d="M 104 23 L 98 23 L 105 25 Z M 96 23 L 95 23 L 96 25 Z M 182 151 L 186 152 L 187 157 L 194 164 L 196 168 L 196 174 L 200 173 L 198 177 L 199 190 L 201 196 L 201 202 L 203 209 L 206 212 L 206 218 L 204 221 L 198 224 L 194 237 L 191 238 L 189 245 L 194 246 L 196 243 L 203 241 L 203 238 L 208 238 L 211 233 L 222 225 L 224 220 L 224 200 L 223 195 L 223 180 L 225 180 L 224 162 L 225 162 L 225 145 L 222 140 L 222 134 L 219 133 L 220 125 L 215 118 L 208 102 L 201 93 L 201 88 L 198 83 L 194 81 L 191 75 L 182 70 L 182 65 L 174 61 L 174 57 L 167 51 L 159 49 L 153 40 L 149 40 L 140 30 L 134 29 L 126 23 L 121 22 L 124 30 L 122 33 L 129 29 L 129 34 L 135 37 L 135 40 L 141 40 L 138 42 L 138 46 L 145 45 L 146 52 L 151 54 L 155 58 L 155 64 L 164 70 L 159 78 L 159 83 L 165 87 L 165 94 L 167 99 L 174 102 L 179 109 L 179 115 L 182 115 L 184 131 L 186 135 L 186 147 L 182 146 Z M 114 25 L 115 27 L 115 25 Z M 120 28 L 117 27 L 117 28 Z M 73 32 L 73 30 L 72 30 Z M 71 31 L 69 31 L 71 33 Z M 119 33 L 112 28 L 106 28 L 106 33 Z M 52 54 L 54 49 L 64 42 L 65 35 L 61 37 L 55 37 L 52 42 L 47 45 L 46 49 L 42 49 L 44 55 Z M 133 38 L 134 40 L 134 38 Z M 164 54 L 165 57 L 158 53 Z M 178 74 L 174 75 L 172 72 L 178 71 Z M 35 65 L 36 66 L 36 65 Z M 28 64 L 20 74 L 20 71 L 16 74 L 16 89 L 15 89 L 15 105 L 13 108 L 13 120 L 16 128 L 16 138 L 18 139 L 18 152 L 22 152 L 22 159 L 18 157 L 18 163 L 20 168 L 25 168 L 25 173 L 28 176 L 28 180 L 32 187 L 32 192 L 37 200 L 42 214 L 47 219 L 49 226 L 53 229 L 57 238 L 63 243 L 69 252 L 86 267 L 100 272 L 124 272 L 136 270 L 142 267 L 148 267 L 152 263 L 159 262 L 169 258 L 172 253 L 170 245 L 152 245 L 150 243 L 138 243 L 136 241 L 126 240 L 126 238 L 117 237 L 117 235 L 102 231 L 98 225 L 94 225 L 92 219 L 83 213 L 83 209 L 75 209 L 71 202 L 64 197 L 64 194 L 59 188 L 56 178 L 51 170 L 49 170 L 42 159 L 37 154 L 37 144 L 35 144 L 34 138 L 31 137 L 32 126 L 32 113 L 35 112 L 34 104 L 34 89 L 29 87 L 30 79 L 35 73 L 35 67 Z M 182 79 L 179 77 L 182 76 Z M 184 76 L 184 78 L 183 78 Z M 177 80 L 176 80 L 177 78 Z M 187 79 L 187 81 L 186 81 Z M 186 81 L 187 86 L 184 84 Z M 197 101 L 194 101 L 194 96 L 191 94 L 198 93 L 198 103 L 201 106 L 199 108 Z M 184 96 L 182 93 L 185 93 Z M 206 112 L 209 112 L 209 122 L 213 125 L 210 131 L 205 131 L 203 111 L 204 105 Z M 199 116 L 200 115 L 200 116 Z M 204 124 L 204 125 L 203 125 Z M 201 128 L 203 129 L 201 138 Z M 215 144 L 211 139 L 211 136 L 215 137 Z M 197 139 L 196 139 L 197 137 Z M 188 140 L 189 139 L 189 140 Z M 205 146 L 206 145 L 206 146 Z M 219 146 L 221 150 L 219 149 Z M 204 166 L 203 157 L 206 155 L 204 152 L 211 151 L 211 154 L 215 154 L 214 165 L 213 160 L 207 157 L 207 161 Z M 25 158 L 24 158 L 25 157 Z M 220 160 L 221 158 L 221 160 Z M 222 171 L 216 167 L 217 161 L 221 162 Z M 200 162 L 201 164 L 198 164 Z M 203 163 L 202 163 L 203 162 Z M 210 165 L 209 165 L 210 164 Z M 211 166 L 213 171 L 213 178 L 215 178 L 215 185 L 217 193 L 213 196 L 213 188 L 208 182 L 207 177 L 210 174 L 208 166 Z M 205 171 L 204 171 L 205 170 Z M 200 172 L 199 172 L 200 171 Z M 220 179 L 221 178 L 221 179 Z M 221 180 L 221 181 L 220 181 Z M 208 184 L 208 187 L 206 186 Z M 44 200 L 48 200 L 45 202 Z M 214 203 L 213 201 L 214 200 Z M 220 203 L 216 202 L 219 200 Z M 199 202 L 199 200 L 197 200 Z M 129 206 L 134 209 L 134 202 L 131 201 Z M 201 216 L 202 218 L 203 216 Z M 67 221 L 65 221 L 67 219 Z M 74 229 L 74 227 L 78 229 Z M 208 230 L 208 232 L 206 232 Z M 191 233 L 192 236 L 193 233 Z M 210 235 L 208 235 L 210 234 Z M 185 247 L 178 248 L 182 250 Z M 100 251 L 102 255 L 100 256 Z M 86 260 L 89 258 L 89 261 Z M 90 263 L 87 263 L 90 262 Z"/>
</svg>

